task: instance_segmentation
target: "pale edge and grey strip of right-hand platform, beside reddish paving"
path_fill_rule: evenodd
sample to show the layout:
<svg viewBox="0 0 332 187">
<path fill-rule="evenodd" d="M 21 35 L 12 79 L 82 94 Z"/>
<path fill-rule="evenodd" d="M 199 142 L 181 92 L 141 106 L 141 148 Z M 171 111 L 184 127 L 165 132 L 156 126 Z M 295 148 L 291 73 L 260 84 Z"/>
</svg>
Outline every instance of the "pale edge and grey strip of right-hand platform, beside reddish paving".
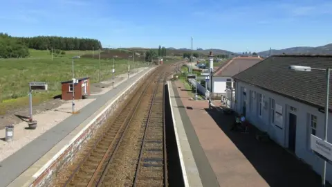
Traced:
<svg viewBox="0 0 332 187">
<path fill-rule="evenodd" d="M 174 83 L 168 82 L 168 89 L 185 186 L 219 186 Z"/>
</svg>

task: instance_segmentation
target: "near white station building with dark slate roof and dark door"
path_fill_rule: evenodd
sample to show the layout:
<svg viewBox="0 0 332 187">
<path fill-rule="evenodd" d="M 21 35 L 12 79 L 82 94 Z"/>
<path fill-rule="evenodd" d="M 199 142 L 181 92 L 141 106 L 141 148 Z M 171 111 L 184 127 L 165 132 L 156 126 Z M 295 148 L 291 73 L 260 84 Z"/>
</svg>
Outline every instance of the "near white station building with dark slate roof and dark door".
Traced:
<svg viewBox="0 0 332 187">
<path fill-rule="evenodd" d="M 322 174 L 323 160 L 312 152 L 310 139 L 311 134 L 320 139 L 324 136 L 326 76 L 324 71 L 288 70 L 290 65 L 331 68 L 332 56 L 271 56 L 234 75 L 233 109 Z M 329 111 L 328 142 L 332 142 L 331 124 Z M 326 168 L 326 179 L 332 183 L 331 164 Z"/>
</svg>

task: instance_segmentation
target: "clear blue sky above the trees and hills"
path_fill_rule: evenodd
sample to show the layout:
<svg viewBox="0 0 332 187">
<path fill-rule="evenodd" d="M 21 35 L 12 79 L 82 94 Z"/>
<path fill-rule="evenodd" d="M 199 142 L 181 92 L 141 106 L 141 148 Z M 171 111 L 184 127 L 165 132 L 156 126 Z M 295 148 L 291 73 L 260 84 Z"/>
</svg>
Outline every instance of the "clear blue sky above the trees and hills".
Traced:
<svg viewBox="0 0 332 187">
<path fill-rule="evenodd" d="M 0 32 L 100 39 L 103 46 L 240 52 L 332 43 L 330 0 L 10 0 Z"/>
</svg>

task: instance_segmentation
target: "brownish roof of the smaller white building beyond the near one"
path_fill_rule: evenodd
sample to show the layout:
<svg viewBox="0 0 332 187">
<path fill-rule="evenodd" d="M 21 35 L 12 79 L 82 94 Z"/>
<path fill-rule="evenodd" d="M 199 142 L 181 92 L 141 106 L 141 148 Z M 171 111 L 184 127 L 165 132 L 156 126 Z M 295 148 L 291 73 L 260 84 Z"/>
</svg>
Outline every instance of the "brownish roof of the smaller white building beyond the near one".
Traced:
<svg viewBox="0 0 332 187">
<path fill-rule="evenodd" d="M 220 68 L 215 71 L 214 76 L 232 77 L 248 69 L 250 66 L 257 64 L 261 60 L 263 59 L 259 57 L 234 57 L 232 60 L 222 64 Z"/>
</svg>

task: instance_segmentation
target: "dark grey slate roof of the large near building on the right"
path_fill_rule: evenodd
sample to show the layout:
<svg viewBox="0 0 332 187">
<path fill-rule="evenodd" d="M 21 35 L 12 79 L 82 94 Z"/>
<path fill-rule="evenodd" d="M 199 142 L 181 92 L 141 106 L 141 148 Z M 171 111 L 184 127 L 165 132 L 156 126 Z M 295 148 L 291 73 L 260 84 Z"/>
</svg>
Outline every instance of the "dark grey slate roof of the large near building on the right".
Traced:
<svg viewBox="0 0 332 187">
<path fill-rule="evenodd" d="M 325 71 L 292 71 L 288 69 L 290 65 L 332 68 L 332 55 L 273 55 L 233 78 L 308 105 L 324 107 Z M 331 89 L 332 81 L 330 93 Z M 331 109 L 332 94 L 329 105 Z"/>
</svg>

